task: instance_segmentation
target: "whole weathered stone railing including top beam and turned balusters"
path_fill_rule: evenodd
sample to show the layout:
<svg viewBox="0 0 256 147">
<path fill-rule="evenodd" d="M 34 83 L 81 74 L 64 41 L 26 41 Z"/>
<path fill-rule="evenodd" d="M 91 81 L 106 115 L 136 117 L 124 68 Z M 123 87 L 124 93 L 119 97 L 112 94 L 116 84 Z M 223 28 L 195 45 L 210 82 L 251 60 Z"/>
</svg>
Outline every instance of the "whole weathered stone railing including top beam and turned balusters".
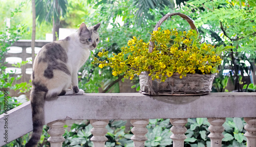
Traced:
<svg viewBox="0 0 256 147">
<path fill-rule="evenodd" d="M 244 117 L 247 146 L 256 146 L 256 93 L 210 93 L 202 96 L 146 96 L 140 93 L 86 93 L 46 102 L 45 123 L 51 146 L 62 146 L 67 119 L 90 119 L 94 146 L 104 146 L 109 119 L 131 119 L 134 146 L 144 146 L 150 118 L 169 118 L 173 146 L 184 146 L 187 118 L 207 117 L 211 146 L 221 146 L 226 117 Z M 30 102 L 0 115 L 0 146 L 32 131 Z M 4 125 L 8 125 L 8 134 Z M 2 131 L 3 130 L 3 131 Z M 7 138 L 5 138 L 7 137 Z M 7 139 L 7 141 L 5 140 Z M 5 142 L 6 141 L 6 142 Z"/>
</svg>

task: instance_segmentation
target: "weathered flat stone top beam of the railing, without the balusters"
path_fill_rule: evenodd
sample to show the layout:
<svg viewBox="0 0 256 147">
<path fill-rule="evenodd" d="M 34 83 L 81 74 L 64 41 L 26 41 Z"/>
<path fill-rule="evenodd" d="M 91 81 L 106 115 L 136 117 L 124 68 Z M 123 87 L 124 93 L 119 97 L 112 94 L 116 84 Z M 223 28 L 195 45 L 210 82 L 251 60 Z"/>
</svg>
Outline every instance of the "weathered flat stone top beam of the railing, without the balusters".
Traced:
<svg viewBox="0 0 256 147">
<path fill-rule="evenodd" d="M 148 119 L 256 117 L 256 92 L 210 93 L 201 96 L 147 96 L 141 93 L 64 95 L 45 103 L 45 124 L 61 119 Z M 30 102 L 0 115 L 8 117 L 9 140 L 32 131 Z M 0 127 L 0 130 L 4 128 Z M 2 132 L 2 131 L 0 131 Z M 0 135 L 0 146 L 3 137 Z"/>
</svg>

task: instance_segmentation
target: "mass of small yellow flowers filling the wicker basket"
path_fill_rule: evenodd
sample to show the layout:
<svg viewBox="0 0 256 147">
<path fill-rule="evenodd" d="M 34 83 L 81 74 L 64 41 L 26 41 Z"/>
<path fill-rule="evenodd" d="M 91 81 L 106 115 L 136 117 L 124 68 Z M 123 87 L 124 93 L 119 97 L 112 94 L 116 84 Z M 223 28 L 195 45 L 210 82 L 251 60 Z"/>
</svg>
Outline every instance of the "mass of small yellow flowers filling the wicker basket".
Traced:
<svg viewBox="0 0 256 147">
<path fill-rule="evenodd" d="M 217 66 L 221 64 L 221 58 L 217 55 L 216 48 L 210 44 L 200 43 L 195 30 L 178 32 L 176 29 L 154 31 L 151 41 L 154 42 L 154 50 L 148 53 L 149 42 L 133 37 L 127 42 L 128 46 L 122 47 L 122 52 L 115 55 L 102 50 L 99 57 L 105 57 L 108 61 L 94 59 L 93 64 L 99 63 L 99 67 L 110 66 L 112 74 L 117 76 L 124 73 L 125 77 L 133 79 L 142 71 L 147 71 L 152 79 L 165 81 L 174 72 L 180 74 L 180 78 L 186 74 L 214 74 L 218 72 Z M 218 48 L 218 51 L 219 48 Z"/>
</svg>

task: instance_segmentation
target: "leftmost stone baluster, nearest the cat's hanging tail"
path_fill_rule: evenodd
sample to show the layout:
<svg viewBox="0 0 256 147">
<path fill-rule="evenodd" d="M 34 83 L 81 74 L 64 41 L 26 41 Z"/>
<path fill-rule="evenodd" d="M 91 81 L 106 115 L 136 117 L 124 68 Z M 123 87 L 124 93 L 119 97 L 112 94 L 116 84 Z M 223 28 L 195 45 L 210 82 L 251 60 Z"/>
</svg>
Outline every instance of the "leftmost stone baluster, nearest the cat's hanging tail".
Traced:
<svg viewBox="0 0 256 147">
<path fill-rule="evenodd" d="M 66 124 L 66 120 L 56 120 L 47 124 L 50 129 L 47 131 L 50 137 L 47 141 L 50 142 L 51 147 L 61 147 L 62 142 L 65 141 L 63 134 L 65 130 L 63 126 Z"/>
</svg>

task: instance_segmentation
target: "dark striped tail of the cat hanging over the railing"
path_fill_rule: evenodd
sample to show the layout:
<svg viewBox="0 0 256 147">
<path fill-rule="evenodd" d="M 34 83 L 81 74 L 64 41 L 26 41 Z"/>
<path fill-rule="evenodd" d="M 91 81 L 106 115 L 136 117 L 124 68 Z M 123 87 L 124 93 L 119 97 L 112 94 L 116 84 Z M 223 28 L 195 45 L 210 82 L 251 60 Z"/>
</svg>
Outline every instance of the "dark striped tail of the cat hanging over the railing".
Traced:
<svg viewBox="0 0 256 147">
<path fill-rule="evenodd" d="M 30 103 L 32 107 L 33 133 L 26 147 L 37 146 L 41 138 L 42 129 L 45 125 L 45 95 L 45 91 L 37 90 L 34 87 L 31 90 Z"/>
</svg>

